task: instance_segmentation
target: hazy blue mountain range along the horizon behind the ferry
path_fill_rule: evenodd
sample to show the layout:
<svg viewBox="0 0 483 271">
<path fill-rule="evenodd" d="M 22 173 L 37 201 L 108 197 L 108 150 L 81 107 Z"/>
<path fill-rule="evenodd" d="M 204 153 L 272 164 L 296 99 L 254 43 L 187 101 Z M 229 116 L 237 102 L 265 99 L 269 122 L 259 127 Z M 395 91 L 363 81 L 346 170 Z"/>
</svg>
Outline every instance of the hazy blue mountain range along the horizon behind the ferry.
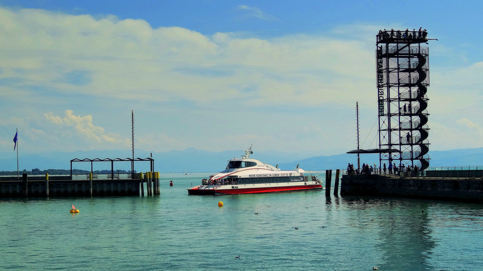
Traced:
<svg viewBox="0 0 483 271">
<path fill-rule="evenodd" d="M 215 172 L 223 170 L 227 165 L 227 160 L 239 157 L 243 154 L 241 150 L 225 150 L 221 152 L 207 151 L 195 148 L 185 150 L 170 150 L 165 152 L 153 152 L 155 159 L 155 170 L 163 173 L 168 172 Z M 483 166 L 483 148 L 478 149 L 453 149 L 444 151 L 429 151 L 429 161 L 431 167 L 438 166 Z M 0 153 L 0 155 L 2 155 Z M 136 151 L 135 158 L 150 157 L 150 152 Z M 6 155 L 4 155 L 6 156 Z M 3 157 L 4 157 L 3 156 Z M 11 153 L 8 156 L 12 157 Z M 127 158 L 132 157 L 129 150 L 90 150 L 74 152 L 50 152 L 31 154 L 19 157 L 20 170 L 38 168 L 46 169 L 70 169 L 70 160 L 74 158 Z M 338 154 L 331 156 L 316 156 L 306 158 L 303 155 L 281 152 L 281 151 L 261 151 L 254 152 L 250 157 L 264 163 L 279 165 L 284 170 L 293 169 L 299 164 L 304 170 L 325 170 L 342 169 L 347 167 L 347 163 L 357 163 L 355 154 Z M 361 163 L 378 164 L 378 154 L 362 154 Z M 0 171 L 16 170 L 17 162 L 15 158 L 0 160 Z M 73 163 L 73 168 L 90 170 L 90 163 Z M 94 170 L 110 169 L 109 162 L 94 163 Z M 114 170 L 130 170 L 129 162 L 114 163 Z M 149 169 L 148 162 L 136 162 L 135 169 L 146 171 Z"/>
</svg>

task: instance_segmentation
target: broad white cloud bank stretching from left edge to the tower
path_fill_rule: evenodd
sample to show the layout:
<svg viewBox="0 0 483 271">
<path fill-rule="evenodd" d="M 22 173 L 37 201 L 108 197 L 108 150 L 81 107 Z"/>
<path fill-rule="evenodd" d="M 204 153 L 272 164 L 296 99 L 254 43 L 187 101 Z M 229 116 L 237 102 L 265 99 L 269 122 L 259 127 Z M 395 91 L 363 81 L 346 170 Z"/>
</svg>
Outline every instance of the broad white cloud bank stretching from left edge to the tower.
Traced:
<svg viewBox="0 0 483 271">
<path fill-rule="evenodd" d="M 239 9 L 270 18 L 255 7 Z M 372 50 L 320 35 L 205 36 L 144 20 L 32 9 L 0 9 L 0 33 L 0 96 L 8 100 L 48 89 L 131 100 L 320 105 L 373 88 Z"/>
</svg>

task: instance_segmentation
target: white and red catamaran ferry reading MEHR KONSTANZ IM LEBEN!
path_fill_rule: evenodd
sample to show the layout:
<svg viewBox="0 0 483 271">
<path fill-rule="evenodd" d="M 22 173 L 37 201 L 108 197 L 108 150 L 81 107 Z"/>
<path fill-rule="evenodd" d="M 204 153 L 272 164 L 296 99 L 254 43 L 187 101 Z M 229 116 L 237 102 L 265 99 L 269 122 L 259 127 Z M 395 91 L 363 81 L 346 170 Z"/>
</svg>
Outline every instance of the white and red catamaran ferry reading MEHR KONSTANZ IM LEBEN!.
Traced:
<svg viewBox="0 0 483 271">
<path fill-rule="evenodd" d="M 227 168 L 201 185 L 188 189 L 189 195 L 250 194 L 282 191 L 323 189 L 316 176 L 304 176 L 304 170 L 280 170 L 277 166 L 249 158 L 252 147 L 243 149 L 245 155 L 228 161 Z"/>
</svg>

